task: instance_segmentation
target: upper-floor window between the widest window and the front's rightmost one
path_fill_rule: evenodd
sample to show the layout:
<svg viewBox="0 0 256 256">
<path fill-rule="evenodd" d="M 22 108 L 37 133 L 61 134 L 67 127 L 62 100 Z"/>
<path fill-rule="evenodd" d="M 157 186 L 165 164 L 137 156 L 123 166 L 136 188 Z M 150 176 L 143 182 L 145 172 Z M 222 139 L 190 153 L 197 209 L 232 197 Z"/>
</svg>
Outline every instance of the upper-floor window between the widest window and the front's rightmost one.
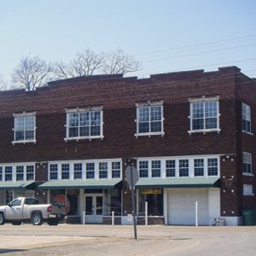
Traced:
<svg viewBox="0 0 256 256">
<path fill-rule="evenodd" d="M 163 106 L 137 108 L 137 135 L 163 134 Z"/>
</svg>

